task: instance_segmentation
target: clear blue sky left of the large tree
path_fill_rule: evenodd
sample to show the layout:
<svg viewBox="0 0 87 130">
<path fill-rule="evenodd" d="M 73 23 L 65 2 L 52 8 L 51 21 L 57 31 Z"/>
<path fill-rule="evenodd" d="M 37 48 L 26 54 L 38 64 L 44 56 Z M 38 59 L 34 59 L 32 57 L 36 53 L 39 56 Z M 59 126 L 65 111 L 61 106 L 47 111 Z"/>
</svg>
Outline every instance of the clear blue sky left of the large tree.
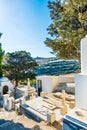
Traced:
<svg viewBox="0 0 87 130">
<path fill-rule="evenodd" d="M 52 57 L 44 44 L 50 25 L 48 0 L 0 0 L 0 39 L 5 52 L 26 50 L 32 57 Z"/>
</svg>

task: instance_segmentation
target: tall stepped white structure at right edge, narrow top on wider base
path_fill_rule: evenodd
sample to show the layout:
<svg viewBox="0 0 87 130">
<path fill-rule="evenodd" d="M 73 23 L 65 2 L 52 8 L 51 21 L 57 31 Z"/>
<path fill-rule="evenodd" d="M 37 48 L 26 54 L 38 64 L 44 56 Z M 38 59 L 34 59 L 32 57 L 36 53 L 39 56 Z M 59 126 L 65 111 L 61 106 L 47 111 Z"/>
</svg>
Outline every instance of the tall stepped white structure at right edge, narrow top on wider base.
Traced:
<svg viewBox="0 0 87 130">
<path fill-rule="evenodd" d="M 81 40 L 81 73 L 75 75 L 76 107 L 87 110 L 87 36 Z"/>
</svg>

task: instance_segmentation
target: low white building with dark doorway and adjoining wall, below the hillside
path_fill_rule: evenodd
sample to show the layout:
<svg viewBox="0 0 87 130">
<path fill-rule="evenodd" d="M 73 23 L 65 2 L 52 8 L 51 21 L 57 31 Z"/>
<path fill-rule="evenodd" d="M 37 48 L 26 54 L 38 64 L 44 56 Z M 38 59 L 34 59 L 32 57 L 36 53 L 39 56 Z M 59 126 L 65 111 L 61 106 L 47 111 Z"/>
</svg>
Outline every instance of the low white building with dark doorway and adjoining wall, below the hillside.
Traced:
<svg viewBox="0 0 87 130">
<path fill-rule="evenodd" d="M 45 93 L 51 93 L 56 89 L 59 91 L 65 89 L 65 91 L 72 92 L 72 90 L 74 91 L 75 88 L 73 74 L 59 76 L 37 76 L 36 81 L 39 95 L 42 91 Z M 61 84 L 61 87 L 59 87 L 59 84 Z M 67 87 L 64 85 L 62 87 L 62 84 L 66 84 Z"/>
</svg>

